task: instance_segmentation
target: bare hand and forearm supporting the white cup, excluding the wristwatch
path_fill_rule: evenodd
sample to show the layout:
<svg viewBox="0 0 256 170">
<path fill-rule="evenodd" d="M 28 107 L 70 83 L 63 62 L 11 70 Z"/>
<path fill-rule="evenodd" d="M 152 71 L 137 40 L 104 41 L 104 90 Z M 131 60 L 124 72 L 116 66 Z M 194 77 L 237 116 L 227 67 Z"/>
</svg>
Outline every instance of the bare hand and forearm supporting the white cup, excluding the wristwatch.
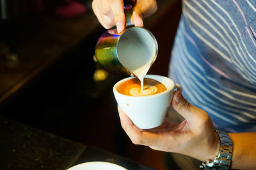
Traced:
<svg viewBox="0 0 256 170">
<path fill-rule="evenodd" d="M 134 144 L 150 146 L 164 152 L 181 153 L 203 162 L 213 160 L 219 153 L 220 139 L 209 115 L 189 104 L 179 91 L 173 94 L 172 106 L 185 120 L 181 124 L 165 120 L 161 126 L 147 131 L 133 125 L 120 108 L 118 111 L 122 127 Z M 230 137 L 234 144 L 232 168 L 255 168 L 256 132 L 230 134 Z"/>
</svg>

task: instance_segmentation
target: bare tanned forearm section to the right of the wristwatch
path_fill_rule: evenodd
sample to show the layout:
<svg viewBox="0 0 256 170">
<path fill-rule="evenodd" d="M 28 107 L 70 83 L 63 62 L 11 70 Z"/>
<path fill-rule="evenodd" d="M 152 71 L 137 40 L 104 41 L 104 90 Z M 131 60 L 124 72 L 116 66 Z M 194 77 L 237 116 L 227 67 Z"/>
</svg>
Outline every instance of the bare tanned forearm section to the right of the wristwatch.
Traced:
<svg viewBox="0 0 256 170">
<path fill-rule="evenodd" d="M 230 133 L 233 143 L 232 169 L 256 169 L 256 132 Z"/>
</svg>

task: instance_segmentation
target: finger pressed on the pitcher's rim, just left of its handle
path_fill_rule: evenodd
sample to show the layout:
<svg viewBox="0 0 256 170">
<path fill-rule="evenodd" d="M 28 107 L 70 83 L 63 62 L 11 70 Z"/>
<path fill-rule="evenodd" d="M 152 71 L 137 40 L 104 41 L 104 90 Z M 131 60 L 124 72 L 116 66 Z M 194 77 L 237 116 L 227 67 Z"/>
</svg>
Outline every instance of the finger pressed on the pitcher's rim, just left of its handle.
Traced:
<svg viewBox="0 0 256 170">
<path fill-rule="evenodd" d="M 109 4 L 115 17 L 116 29 L 120 33 L 125 29 L 124 1 L 109 0 Z"/>
</svg>

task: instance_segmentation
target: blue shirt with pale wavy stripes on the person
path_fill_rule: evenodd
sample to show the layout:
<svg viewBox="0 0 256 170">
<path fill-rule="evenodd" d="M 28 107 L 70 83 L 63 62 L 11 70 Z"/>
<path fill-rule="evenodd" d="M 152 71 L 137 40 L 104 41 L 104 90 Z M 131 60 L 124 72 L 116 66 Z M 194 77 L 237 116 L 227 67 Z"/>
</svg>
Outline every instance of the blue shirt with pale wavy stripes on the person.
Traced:
<svg viewBox="0 0 256 170">
<path fill-rule="evenodd" d="M 169 76 L 217 129 L 256 131 L 256 1 L 184 0 Z"/>
</svg>

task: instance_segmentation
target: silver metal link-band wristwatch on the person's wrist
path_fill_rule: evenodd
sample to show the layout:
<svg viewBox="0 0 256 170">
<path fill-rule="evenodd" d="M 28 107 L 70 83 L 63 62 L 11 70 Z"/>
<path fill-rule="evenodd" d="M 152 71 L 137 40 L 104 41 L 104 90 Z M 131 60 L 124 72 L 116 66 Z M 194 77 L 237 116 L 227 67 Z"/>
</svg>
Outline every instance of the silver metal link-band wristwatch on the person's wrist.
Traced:
<svg viewBox="0 0 256 170">
<path fill-rule="evenodd" d="M 230 136 L 223 131 L 215 130 L 220 137 L 220 153 L 211 162 L 201 162 L 200 168 L 205 170 L 226 170 L 230 167 L 233 145 Z"/>
</svg>

